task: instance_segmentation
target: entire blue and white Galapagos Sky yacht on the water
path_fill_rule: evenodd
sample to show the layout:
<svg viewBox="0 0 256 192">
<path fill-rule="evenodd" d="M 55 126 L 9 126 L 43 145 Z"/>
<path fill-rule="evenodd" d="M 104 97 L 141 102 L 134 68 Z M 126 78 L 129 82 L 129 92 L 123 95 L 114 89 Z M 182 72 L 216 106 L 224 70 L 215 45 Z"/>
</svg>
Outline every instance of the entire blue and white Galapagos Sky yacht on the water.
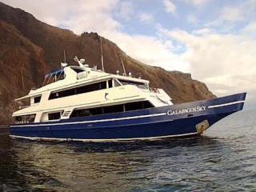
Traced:
<svg viewBox="0 0 256 192">
<path fill-rule="evenodd" d="M 108 74 L 75 58 L 47 74 L 42 87 L 16 99 L 24 105 L 10 126 L 13 138 L 126 141 L 200 135 L 242 110 L 246 93 L 173 104 L 162 89 L 129 75 Z"/>
</svg>

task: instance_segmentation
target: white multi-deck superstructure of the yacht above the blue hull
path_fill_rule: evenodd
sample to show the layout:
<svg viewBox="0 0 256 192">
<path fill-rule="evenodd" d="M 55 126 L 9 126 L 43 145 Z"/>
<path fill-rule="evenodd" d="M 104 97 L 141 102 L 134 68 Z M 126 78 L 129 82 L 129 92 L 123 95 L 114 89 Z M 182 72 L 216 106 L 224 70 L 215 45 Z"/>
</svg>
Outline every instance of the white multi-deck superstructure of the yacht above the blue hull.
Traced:
<svg viewBox="0 0 256 192">
<path fill-rule="evenodd" d="M 108 74 L 83 65 L 84 59 L 76 61 L 79 66 L 62 63 L 62 70 L 46 75 L 44 86 L 16 99 L 17 102 L 30 99 L 29 106 L 14 112 L 16 123 L 173 105 L 164 90 L 151 89 L 147 80 Z"/>
</svg>

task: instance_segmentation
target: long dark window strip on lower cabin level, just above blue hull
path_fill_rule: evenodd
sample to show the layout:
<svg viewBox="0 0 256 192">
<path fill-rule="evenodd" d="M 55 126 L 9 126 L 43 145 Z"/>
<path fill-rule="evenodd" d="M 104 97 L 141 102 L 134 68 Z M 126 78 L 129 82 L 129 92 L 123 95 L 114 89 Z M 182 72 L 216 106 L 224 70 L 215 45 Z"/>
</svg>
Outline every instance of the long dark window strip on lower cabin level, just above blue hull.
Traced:
<svg viewBox="0 0 256 192">
<path fill-rule="evenodd" d="M 90 109 L 73 110 L 72 114 L 70 115 L 70 118 L 78 118 L 98 114 L 114 114 L 130 110 L 142 110 L 150 107 L 153 107 L 153 105 L 148 101 L 130 102 L 114 106 L 103 106 Z"/>
</svg>

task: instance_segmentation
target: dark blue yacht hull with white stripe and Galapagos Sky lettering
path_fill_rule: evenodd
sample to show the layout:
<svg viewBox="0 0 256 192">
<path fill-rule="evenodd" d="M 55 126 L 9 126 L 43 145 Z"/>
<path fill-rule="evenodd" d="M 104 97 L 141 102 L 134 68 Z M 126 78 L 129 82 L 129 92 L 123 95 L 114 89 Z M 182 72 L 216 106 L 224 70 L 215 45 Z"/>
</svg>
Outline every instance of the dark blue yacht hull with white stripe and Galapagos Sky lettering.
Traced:
<svg viewBox="0 0 256 192">
<path fill-rule="evenodd" d="M 85 142 L 156 139 L 202 134 L 215 122 L 242 110 L 246 94 L 119 114 L 10 126 L 14 138 Z"/>
</svg>

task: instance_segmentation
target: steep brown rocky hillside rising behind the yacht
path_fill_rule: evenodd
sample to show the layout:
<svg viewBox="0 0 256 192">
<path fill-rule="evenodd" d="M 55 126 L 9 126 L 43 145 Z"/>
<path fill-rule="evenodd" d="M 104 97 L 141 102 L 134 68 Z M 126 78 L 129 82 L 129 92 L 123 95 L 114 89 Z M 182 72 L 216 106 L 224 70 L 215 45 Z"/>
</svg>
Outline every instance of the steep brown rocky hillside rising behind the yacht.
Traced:
<svg viewBox="0 0 256 192">
<path fill-rule="evenodd" d="M 107 72 L 119 70 L 122 74 L 122 58 L 127 71 L 150 80 L 152 87 L 166 90 L 176 103 L 215 97 L 190 74 L 147 66 L 127 56 L 106 38 L 102 38 L 102 46 Z M 70 64 L 75 65 L 73 58 L 77 55 L 86 56 L 90 66 L 101 66 L 98 34 L 77 35 L 0 2 L 0 124 L 11 121 L 14 98 L 27 94 L 30 87 L 40 86 L 44 74 L 59 68 L 63 50 Z"/>
</svg>

